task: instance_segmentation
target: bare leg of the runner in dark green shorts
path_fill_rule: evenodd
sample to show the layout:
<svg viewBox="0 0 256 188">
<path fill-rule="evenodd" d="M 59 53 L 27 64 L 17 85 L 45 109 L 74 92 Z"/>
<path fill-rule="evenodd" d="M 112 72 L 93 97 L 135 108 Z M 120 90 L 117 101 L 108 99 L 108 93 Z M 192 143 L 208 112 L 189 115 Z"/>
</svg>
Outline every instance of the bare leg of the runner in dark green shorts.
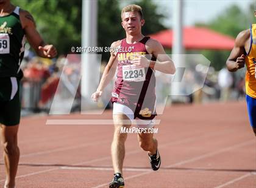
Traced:
<svg viewBox="0 0 256 188">
<path fill-rule="evenodd" d="M 4 149 L 5 162 L 5 188 L 15 187 L 15 176 L 18 169 L 20 158 L 20 149 L 18 147 L 18 125 L 4 126 L 1 125 L 1 144 Z"/>
</svg>

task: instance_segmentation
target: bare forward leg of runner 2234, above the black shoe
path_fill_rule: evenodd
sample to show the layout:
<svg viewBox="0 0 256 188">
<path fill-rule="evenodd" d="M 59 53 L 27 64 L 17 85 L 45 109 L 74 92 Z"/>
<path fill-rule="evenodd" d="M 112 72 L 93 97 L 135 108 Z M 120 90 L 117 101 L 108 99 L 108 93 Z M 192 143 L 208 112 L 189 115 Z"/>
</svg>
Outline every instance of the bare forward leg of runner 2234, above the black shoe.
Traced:
<svg viewBox="0 0 256 188">
<path fill-rule="evenodd" d="M 129 129 L 131 123 L 130 119 L 124 114 L 114 114 L 113 121 L 115 124 L 111 147 L 113 169 L 115 173 L 122 173 L 125 155 L 124 143 L 127 138 L 127 133 L 121 133 L 121 128 L 126 127 Z"/>
</svg>

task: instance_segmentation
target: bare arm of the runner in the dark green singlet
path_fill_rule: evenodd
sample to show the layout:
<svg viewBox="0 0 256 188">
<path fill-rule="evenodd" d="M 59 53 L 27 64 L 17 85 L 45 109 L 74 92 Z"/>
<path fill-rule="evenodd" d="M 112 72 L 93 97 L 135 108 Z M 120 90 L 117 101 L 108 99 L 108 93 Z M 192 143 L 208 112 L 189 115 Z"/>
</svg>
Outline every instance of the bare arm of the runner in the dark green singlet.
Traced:
<svg viewBox="0 0 256 188">
<path fill-rule="evenodd" d="M 21 25 L 24 29 L 27 41 L 33 47 L 38 56 L 42 58 L 54 58 L 57 50 L 51 44 L 46 44 L 37 31 L 34 18 L 26 10 L 20 10 Z"/>
</svg>

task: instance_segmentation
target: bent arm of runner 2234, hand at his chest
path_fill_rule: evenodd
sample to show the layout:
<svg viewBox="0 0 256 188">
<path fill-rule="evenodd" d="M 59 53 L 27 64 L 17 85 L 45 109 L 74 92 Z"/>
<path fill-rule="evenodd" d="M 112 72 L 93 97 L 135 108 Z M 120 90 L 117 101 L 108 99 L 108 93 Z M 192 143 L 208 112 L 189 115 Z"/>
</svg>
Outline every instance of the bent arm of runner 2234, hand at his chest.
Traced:
<svg viewBox="0 0 256 188">
<path fill-rule="evenodd" d="M 157 61 L 151 61 L 146 59 L 144 56 L 137 56 L 137 58 L 133 59 L 132 64 L 142 65 L 143 67 L 151 67 L 154 70 L 158 70 L 160 72 L 166 74 L 174 74 L 175 66 L 172 62 L 171 58 L 166 55 L 165 50 L 163 49 L 162 44 L 160 42 L 149 39 L 146 42 L 146 50 L 149 54 L 157 57 Z"/>
</svg>

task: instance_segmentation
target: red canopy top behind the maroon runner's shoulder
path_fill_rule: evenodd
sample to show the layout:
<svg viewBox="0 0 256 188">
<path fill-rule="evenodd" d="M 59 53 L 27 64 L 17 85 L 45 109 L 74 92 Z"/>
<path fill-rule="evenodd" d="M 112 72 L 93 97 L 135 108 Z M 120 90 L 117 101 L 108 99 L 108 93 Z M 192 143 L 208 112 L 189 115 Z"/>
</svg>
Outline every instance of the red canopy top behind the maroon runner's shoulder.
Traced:
<svg viewBox="0 0 256 188">
<path fill-rule="evenodd" d="M 172 47 L 172 30 L 163 30 L 149 36 L 157 39 L 163 47 Z M 234 44 L 235 39 L 232 37 L 204 27 L 183 28 L 183 46 L 185 49 L 231 50 Z"/>
</svg>

